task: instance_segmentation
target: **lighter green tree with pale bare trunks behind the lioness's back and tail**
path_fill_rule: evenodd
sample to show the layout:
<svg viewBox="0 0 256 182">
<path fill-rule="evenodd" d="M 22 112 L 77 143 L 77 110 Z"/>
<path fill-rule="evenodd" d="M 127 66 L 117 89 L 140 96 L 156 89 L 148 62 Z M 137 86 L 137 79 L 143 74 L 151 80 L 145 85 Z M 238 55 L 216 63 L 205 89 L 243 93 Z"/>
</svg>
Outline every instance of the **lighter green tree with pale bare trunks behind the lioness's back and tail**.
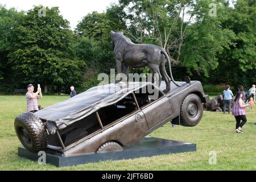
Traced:
<svg viewBox="0 0 256 182">
<path fill-rule="evenodd" d="M 127 30 L 133 35 L 126 35 L 135 42 L 158 44 L 166 49 L 175 64 L 174 73 L 180 78 L 187 74 L 208 77 L 218 66 L 217 55 L 232 44 L 233 32 L 220 27 L 227 16 L 225 1 L 215 1 L 216 17 L 209 15 L 210 3 L 119 0 L 126 9 L 127 22 L 131 22 Z"/>
</svg>

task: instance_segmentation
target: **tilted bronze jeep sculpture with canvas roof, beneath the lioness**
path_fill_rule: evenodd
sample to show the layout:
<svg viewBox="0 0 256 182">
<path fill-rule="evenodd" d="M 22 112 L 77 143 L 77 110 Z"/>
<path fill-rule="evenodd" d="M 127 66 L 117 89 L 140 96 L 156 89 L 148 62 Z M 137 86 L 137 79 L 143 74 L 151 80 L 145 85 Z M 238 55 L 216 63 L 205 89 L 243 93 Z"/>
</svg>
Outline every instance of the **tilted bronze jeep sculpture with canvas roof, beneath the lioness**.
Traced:
<svg viewBox="0 0 256 182">
<path fill-rule="evenodd" d="M 127 82 L 93 87 L 36 113 L 15 118 L 16 135 L 31 152 L 63 155 L 121 151 L 172 120 L 196 126 L 209 101 L 201 82 L 171 83 L 163 93 L 151 82 Z M 152 89 L 149 89 L 152 88 Z"/>
</svg>

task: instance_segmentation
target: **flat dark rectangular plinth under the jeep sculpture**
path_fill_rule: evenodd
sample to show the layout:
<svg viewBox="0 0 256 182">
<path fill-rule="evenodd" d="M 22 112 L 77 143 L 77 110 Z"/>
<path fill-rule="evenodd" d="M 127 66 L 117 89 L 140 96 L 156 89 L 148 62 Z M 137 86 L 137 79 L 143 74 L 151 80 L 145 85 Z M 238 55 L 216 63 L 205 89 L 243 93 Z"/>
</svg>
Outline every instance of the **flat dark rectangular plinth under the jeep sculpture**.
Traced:
<svg viewBox="0 0 256 182">
<path fill-rule="evenodd" d="M 101 160 L 134 159 L 154 155 L 175 154 L 196 151 L 195 143 L 185 143 L 176 140 L 144 137 L 122 151 L 103 154 L 84 154 L 62 156 L 46 152 L 46 163 L 57 167 L 75 166 L 77 164 L 100 162 Z M 38 161 L 39 155 L 32 153 L 23 146 L 18 147 L 18 156 Z"/>
</svg>

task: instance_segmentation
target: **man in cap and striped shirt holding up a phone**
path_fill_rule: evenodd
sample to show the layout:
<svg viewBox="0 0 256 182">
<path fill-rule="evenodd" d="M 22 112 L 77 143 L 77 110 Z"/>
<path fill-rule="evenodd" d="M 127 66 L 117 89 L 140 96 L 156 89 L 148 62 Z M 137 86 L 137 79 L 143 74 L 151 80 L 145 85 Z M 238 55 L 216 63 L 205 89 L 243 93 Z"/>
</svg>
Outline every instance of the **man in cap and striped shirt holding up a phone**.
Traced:
<svg viewBox="0 0 256 182">
<path fill-rule="evenodd" d="M 43 98 L 41 88 L 38 88 L 38 91 L 34 93 L 34 86 L 32 84 L 27 85 L 27 111 L 35 113 L 39 110 L 38 108 L 38 99 Z"/>
</svg>

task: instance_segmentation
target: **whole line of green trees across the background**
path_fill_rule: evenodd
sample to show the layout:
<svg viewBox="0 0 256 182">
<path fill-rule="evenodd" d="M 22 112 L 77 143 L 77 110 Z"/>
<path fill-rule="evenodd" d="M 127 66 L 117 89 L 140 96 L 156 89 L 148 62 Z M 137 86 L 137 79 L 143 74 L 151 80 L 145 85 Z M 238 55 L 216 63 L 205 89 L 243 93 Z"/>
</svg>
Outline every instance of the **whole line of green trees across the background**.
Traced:
<svg viewBox="0 0 256 182">
<path fill-rule="evenodd" d="M 85 15 L 72 31 L 58 7 L 24 12 L 1 5 L 0 92 L 31 82 L 49 93 L 97 85 L 97 74 L 115 67 L 111 30 L 166 49 L 177 81 L 188 75 L 249 88 L 256 82 L 255 13 L 253 0 L 119 0 L 105 13 Z"/>
</svg>

